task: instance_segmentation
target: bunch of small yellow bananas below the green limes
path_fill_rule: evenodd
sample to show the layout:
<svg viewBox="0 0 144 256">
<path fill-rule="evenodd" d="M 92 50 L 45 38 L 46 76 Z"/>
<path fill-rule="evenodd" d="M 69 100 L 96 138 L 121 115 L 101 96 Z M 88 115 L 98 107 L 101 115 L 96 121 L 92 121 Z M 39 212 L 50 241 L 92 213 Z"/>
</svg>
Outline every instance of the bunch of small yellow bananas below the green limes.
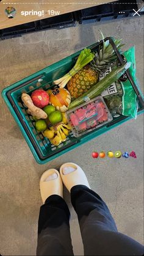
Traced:
<svg viewBox="0 0 144 256">
<path fill-rule="evenodd" d="M 59 123 L 56 126 L 51 126 L 43 132 L 43 136 L 47 137 L 51 144 L 58 146 L 61 142 L 67 139 L 70 133 L 70 126 L 65 125 L 65 123 Z"/>
</svg>

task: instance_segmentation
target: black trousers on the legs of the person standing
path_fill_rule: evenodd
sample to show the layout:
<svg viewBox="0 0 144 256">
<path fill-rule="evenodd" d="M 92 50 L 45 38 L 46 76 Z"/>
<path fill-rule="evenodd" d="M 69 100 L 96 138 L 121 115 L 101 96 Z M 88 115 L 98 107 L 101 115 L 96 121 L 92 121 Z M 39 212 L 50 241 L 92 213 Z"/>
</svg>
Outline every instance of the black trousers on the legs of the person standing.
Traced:
<svg viewBox="0 0 144 256">
<path fill-rule="evenodd" d="M 143 255 L 143 246 L 119 233 L 106 203 L 87 186 L 71 189 L 85 255 Z M 70 211 L 62 197 L 53 195 L 40 208 L 37 255 L 73 255 Z"/>
</svg>

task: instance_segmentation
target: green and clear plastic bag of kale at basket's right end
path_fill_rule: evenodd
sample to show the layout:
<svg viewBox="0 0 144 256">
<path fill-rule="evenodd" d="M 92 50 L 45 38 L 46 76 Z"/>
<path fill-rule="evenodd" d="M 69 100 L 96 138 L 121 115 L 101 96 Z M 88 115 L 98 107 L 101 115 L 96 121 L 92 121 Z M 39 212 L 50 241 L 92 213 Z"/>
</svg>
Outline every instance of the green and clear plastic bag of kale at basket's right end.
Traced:
<svg viewBox="0 0 144 256">
<path fill-rule="evenodd" d="M 135 76 L 135 47 L 132 47 L 128 49 L 128 51 L 125 51 L 122 54 L 122 57 L 124 62 L 132 63 L 131 67 L 129 68 L 129 72 L 134 79 L 135 84 L 137 84 L 137 78 Z M 115 65 L 118 66 L 120 65 L 120 63 L 117 61 L 110 68 L 113 68 Z M 108 69 L 109 68 L 107 68 L 107 70 Z M 106 72 L 105 75 L 107 75 Z M 126 73 L 124 73 L 117 82 L 113 83 L 107 89 L 107 92 L 105 90 L 102 93 L 102 96 L 104 97 L 113 117 L 117 117 L 118 115 L 126 115 L 136 119 L 138 110 L 137 95 L 134 92 L 134 89 Z"/>
</svg>

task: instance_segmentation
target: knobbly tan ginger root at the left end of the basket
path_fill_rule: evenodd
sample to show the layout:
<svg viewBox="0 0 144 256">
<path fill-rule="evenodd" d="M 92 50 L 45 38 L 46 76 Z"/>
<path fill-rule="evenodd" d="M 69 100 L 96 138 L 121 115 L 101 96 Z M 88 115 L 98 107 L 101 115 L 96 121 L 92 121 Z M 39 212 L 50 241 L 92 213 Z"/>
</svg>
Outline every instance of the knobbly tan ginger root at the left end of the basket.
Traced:
<svg viewBox="0 0 144 256">
<path fill-rule="evenodd" d="M 45 111 L 43 111 L 40 108 L 37 108 L 34 103 L 32 102 L 31 96 L 29 96 L 27 93 L 22 93 L 21 100 L 23 103 L 27 106 L 27 113 L 34 115 L 37 117 L 37 119 L 46 119 L 48 115 Z"/>
</svg>

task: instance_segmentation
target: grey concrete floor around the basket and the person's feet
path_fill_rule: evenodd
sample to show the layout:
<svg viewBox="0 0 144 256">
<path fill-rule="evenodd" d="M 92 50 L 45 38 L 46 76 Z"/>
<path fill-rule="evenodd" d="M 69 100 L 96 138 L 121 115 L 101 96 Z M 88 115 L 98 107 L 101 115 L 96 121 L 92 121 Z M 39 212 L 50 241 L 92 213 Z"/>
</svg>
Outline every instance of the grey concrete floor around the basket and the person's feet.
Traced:
<svg viewBox="0 0 144 256">
<path fill-rule="evenodd" d="M 143 17 L 41 31 L 0 42 L 1 90 L 105 36 L 123 38 L 124 49 L 135 45 L 137 78 L 143 85 Z M 0 253 L 35 255 L 41 205 L 39 179 L 49 167 L 65 161 L 79 164 L 90 186 L 106 201 L 118 230 L 143 243 L 143 116 L 118 126 L 51 163 L 38 165 L 12 115 L 0 98 Z M 134 150 L 137 159 L 93 159 L 93 150 Z M 76 213 L 71 210 L 71 236 L 76 255 L 83 254 Z"/>
</svg>

